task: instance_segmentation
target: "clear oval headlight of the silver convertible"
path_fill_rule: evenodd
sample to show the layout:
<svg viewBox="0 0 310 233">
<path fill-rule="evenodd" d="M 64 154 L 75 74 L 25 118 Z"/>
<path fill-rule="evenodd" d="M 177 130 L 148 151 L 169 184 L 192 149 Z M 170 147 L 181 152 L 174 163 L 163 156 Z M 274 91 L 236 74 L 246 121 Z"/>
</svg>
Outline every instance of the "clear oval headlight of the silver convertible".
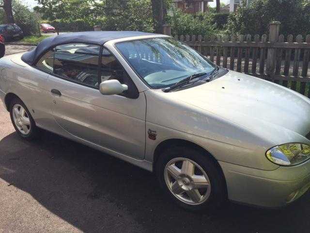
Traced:
<svg viewBox="0 0 310 233">
<path fill-rule="evenodd" d="M 266 152 L 267 158 L 281 166 L 294 166 L 310 158 L 310 145 L 303 143 L 286 143 L 271 148 Z"/>
</svg>

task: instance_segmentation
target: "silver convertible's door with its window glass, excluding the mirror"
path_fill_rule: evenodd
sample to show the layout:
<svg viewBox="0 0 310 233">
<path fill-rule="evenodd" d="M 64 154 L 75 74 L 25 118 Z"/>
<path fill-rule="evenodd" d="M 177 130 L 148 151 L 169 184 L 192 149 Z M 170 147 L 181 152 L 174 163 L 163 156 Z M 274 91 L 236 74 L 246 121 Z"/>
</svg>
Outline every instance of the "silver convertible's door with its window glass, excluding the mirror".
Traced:
<svg viewBox="0 0 310 233">
<path fill-rule="evenodd" d="M 64 133 L 143 159 L 145 97 L 139 95 L 115 57 L 103 50 L 99 59 L 99 51 L 99 46 L 85 44 L 55 48 L 53 74 L 49 76 L 52 114 Z M 128 91 L 121 95 L 102 95 L 99 84 L 108 79 L 127 84 Z"/>
</svg>

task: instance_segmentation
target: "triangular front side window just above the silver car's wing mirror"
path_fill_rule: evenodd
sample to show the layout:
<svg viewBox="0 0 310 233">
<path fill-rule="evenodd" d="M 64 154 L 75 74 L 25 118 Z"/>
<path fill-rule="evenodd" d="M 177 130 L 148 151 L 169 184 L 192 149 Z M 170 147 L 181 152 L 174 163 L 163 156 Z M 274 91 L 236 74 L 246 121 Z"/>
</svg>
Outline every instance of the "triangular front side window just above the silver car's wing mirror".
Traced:
<svg viewBox="0 0 310 233">
<path fill-rule="evenodd" d="M 124 91 L 121 95 L 133 99 L 138 98 L 138 89 L 125 71 L 124 67 L 114 55 L 109 52 L 109 50 L 103 48 L 101 57 L 101 82 L 113 79 L 128 86 L 128 90 Z"/>
</svg>

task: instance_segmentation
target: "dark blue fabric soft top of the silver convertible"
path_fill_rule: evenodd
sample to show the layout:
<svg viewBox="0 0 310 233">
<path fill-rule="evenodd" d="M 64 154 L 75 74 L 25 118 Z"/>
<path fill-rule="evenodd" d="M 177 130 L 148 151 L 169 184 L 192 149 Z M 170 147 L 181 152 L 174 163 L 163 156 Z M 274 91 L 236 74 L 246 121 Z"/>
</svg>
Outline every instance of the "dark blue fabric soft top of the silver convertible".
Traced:
<svg viewBox="0 0 310 233">
<path fill-rule="evenodd" d="M 25 52 L 22 55 L 21 59 L 29 65 L 34 65 L 34 63 L 39 59 L 42 53 L 60 44 L 87 43 L 101 46 L 104 43 L 108 42 L 109 40 L 121 39 L 132 36 L 142 36 L 142 35 L 155 35 L 155 34 L 135 32 L 135 31 L 62 33 L 60 35 L 51 36 L 42 40 L 35 49 L 29 52 Z"/>
</svg>

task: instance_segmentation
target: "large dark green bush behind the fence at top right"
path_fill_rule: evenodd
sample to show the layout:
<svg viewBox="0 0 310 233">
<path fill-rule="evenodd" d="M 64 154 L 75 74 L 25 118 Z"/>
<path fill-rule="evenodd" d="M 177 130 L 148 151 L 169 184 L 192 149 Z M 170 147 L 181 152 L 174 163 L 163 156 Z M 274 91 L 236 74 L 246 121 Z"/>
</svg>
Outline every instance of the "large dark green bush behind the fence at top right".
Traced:
<svg viewBox="0 0 310 233">
<path fill-rule="evenodd" d="M 226 28 L 231 33 L 264 34 L 271 21 L 281 22 L 280 33 L 285 36 L 310 33 L 309 0 L 252 1 L 229 16 Z"/>
</svg>

